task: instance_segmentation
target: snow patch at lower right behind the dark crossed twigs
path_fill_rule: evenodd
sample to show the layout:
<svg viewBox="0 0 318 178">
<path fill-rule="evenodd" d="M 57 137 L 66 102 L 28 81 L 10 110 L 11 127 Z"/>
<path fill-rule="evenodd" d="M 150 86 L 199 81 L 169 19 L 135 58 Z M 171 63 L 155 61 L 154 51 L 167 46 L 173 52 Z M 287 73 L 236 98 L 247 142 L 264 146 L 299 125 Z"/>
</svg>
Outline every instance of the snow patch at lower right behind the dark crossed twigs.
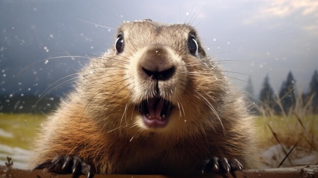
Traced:
<svg viewBox="0 0 318 178">
<path fill-rule="evenodd" d="M 282 145 L 284 150 L 289 153 L 292 147 Z M 261 157 L 264 165 L 262 168 L 275 168 L 284 159 L 285 153 L 279 144 L 274 145 L 263 152 Z M 309 149 L 296 147 L 289 157 L 285 159 L 280 167 L 291 167 L 305 164 L 317 164 L 318 163 L 318 152 L 311 151 Z"/>
</svg>

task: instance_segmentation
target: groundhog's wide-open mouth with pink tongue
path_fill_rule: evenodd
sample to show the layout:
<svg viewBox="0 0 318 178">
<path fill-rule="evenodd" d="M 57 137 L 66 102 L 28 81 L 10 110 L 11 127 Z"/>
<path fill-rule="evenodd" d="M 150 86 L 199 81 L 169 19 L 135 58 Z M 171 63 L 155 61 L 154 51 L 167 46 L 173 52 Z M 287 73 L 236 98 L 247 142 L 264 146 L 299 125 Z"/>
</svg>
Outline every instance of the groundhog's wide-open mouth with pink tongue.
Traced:
<svg viewBox="0 0 318 178">
<path fill-rule="evenodd" d="M 149 98 L 140 104 L 139 111 L 143 122 L 147 127 L 165 127 L 169 122 L 169 116 L 173 109 L 171 101 L 161 97 Z"/>
</svg>

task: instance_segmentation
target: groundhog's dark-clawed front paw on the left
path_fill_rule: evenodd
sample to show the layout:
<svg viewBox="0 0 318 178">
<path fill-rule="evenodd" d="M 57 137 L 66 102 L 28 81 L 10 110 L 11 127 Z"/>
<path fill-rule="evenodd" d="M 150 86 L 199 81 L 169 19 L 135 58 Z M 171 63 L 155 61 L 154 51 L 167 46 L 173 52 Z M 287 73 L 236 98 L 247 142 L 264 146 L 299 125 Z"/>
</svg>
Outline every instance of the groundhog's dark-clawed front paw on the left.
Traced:
<svg viewBox="0 0 318 178">
<path fill-rule="evenodd" d="M 46 160 L 37 165 L 33 170 L 44 168 L 47 168 L 53 173 L 84 174 L 87 178 L 91 175 L 90 165 L 86 164 L 83 159 L 77 155 L 59 155 L 53 160 Z"/>
</svg>

